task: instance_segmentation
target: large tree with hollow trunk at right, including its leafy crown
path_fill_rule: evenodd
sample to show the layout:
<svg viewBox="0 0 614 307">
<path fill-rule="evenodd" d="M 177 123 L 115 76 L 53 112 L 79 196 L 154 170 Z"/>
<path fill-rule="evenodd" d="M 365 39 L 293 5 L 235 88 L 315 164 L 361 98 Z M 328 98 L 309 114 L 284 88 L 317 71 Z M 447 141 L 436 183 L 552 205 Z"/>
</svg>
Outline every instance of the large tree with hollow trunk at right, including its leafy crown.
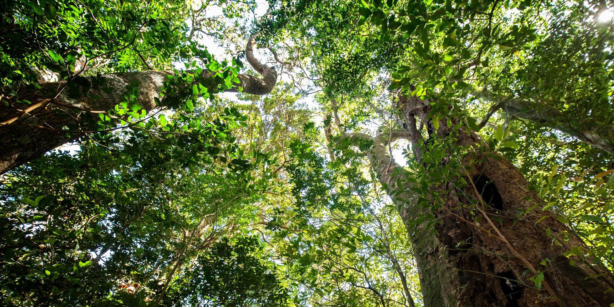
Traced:
<svg viewBox="0 0 614 307">
<path fill-rule="evenodd" d="M 433 306 L 531 305 L 538 301 L 542 294 L 527 288 L 538 286 L 539 289 L 543 285 L 546 296 L 550 297 L 550 301 L 542 301 L 545 305 L 608 306 L 614 299 L 614 297 L 606 298 L 608 293 L 612 293 L 611 273 L 599 265 L 568 264 L 570 260 L 562 254 L 582 254 L 581 258 L 586 257 L 583 252 L 572 252 L 583 251 L 583 242 L 567 228 L 564 218 L 558 214 L 548 213 L 547 208 L 553 205 L 546 204 L 537 197 L 537 194 L 530 192 L 528 182 L 515 167 L 493 151 L 496 147 L 504 150 L 518 146 L 513 142 L 504 142 L 502 133 L 497 133 L 499 137 L 490 144 L 483 142 L 473 130 L 479 130 L 484 124 L 478 125 L 471 117 L 462 119 L 467 115 L 467 111 L 462 109 L 467 103 L 462 99 L 466 99 L 467 96 L 473 96 L 472 99 L 486 97 L 495 101 L 495 107 L 487 112 L 483 123 L 488 122 L 488 118 L 503 107 L 507 114 L 540 124 L 545 123 L 610 152 L 609 141 L 605 137 L 608 132 L 604 132 L 607 128 L 600 130 L 602 132 L 599 133 L 596 130 L 583 133 L 586 129 L 581 128 L 583 125 L 581 122 L 588 120 L 593 112 L 582 115 L 583 111 L 576 109 L 581 116 L 588 117 L 580 117 L 578 121 L 573 122 L 565 118 L 570 116 L 570 111 L 565 110 L 569 106 L 565 106 L 562 111 L 553 112 L 554 107 L 538 107 L 535 103 L 523 100 L 519 93 L 522 94 L 524 88 L 511 90 L 505 88 L 506 85 L 518 82 L 518 79 L 524 77 L 521 71 L 535 69 L 536 65 L 544 65 L 546 60 L 553 61 L 554 57 L 561 56 L 561 53 L 553 53 L 552 46 L 554 42 L 564 42 L 559 36 L 561 10 L 564 9 L 575 12 L 565 21 L 567 25 L 580 23 L 578 28 L 583 31 L 592 29 L 597 33 L 597 37 L 602 37 L 601 41 L 593 37 L 591 41 L 579 39 L 573 45 L 565 45 L 567 49 L 564 49 L 564 52 L 575 54 L 579 49 L 594 48 L 597 54 L 594 58 L 591 56 L 588 61 L 593 63 L 591 65 L 596 69 L 608 71 L 607 60 L 605 64 L 603 62 L 608 53 L 599 50 L 604 48 L 604 45 L 610 44 L 607 41 L 611 34 L 610 28 L 599 25 L 594 20 L 585 21 L 588 12 L 592 10 L 591 4 L 546 6 L 548 14 L 552 14 L 546 16 L 553 18 L 537 18 L 536 21 L 530 18 L 537 17 L 535 14 L 542 14 L 541 7 L 535 7 L 533 10 L 524 2 L 499 4 L 497 1 L 475 1 L 467 8 L 465 8 L 467 3 L 461 1 L 361 3 L 342 2 L 340 9 L 333 13 L 317 5 L 307 5 L 300 14 L 289 15 L 283 24 L 287 26 L 292 25 L 294 20 L 300 20 L 299 22 L 309 20 L 307 16 L 317 20 L 310 23 L 309 26 L 313 28 L 305 36 L 309 41 L 321 44 L 319 46 L 323 51 L 317 52 L 318 56 L 311 55 L 311 59 L 314 65 L 321 69 L 319 82 L 328 90 L 327 94 L 332 101 L 344 95 L 368 101 L 365 92 L 373 88 L 368 88 L 369 84 L 365 82 L 365 74 L 369 74 L 368 68 L 371 65 L 376 67 L 371 75 L 375 75 L 378 69 L 396 68 L 396 71 L 392 72 L 393 80 L 388 90 L 403 87 L 402 93 L 398 94 L 400 98 L 393 100 L 390 111 L 378 108 L 373 110 L 385 114 L 387 120 L 392 120 L 394 125 L 382 126 L 384 131 L 378 131 L 378 135 L 373 138 L 362 133 L 351 133 L 346 136 L 352 139 L 352 144 L 359 147 L 362 145 L 371 167 L 376 170 L 382 185 L 397 204 L 398 211 L 408 227 L 416 259 L 421 268 L 425 303 Z M 514 9 L 516 6 L 528 11 L 527 14 L 519 14 L 518 18 L 504 17 L 505 14 L 509 14 L 509 9 Z M 349 11 L 357 14 L 348 14 Z M 506 19 L 515 20 L 515 23 L 508 23 Z M 319 23 L 320 20 L 327 22 Z M 516 25 L 518 22 L 520 25 Z M 331 34 L 329 27 L 336 24 L 348 26 L 341 28 L 333 26 L 336 31 Z M 552 36 L 544 34 L 537 37 L 535 28 L 538 26 L 559 31 L 553 32 Z M 570 36 L 570 33 L 578 34 L 578 28 L 563 33 L 562 37 Z M 316 33 L 316 38 L 313 38 L 313 33 Z M 298 32 L 297 39 L 303 39 L 300 34 L 303 33 Z M 412 34 L 415 37 L 413 43 Z M 333 37 L 336 42 L 331 44 Z M 376 38 L 379 42 L 371 41 L 373 42 L 371 43 L 370 37 Z M 537 47 L 532 49 L 523 47 L 530 41 L 533 41 Z M 604 45 L 593 47 L 595 41 L 603 42 Z M 477 43 L 474 44 L 475 42 Z M 495 42 L 500 45 L 499 50 L 494 48 Z M 364 55 L 365 50 L 381 54 L 383 50 L 389 49 L 391 44 L 398 48 L 398 52 L 387 55 L 387 58 Z M 346 47 L 348 45 L 351 48 Z M 507 61 L 503 57 L 524 50 L 535 57 L 520 64 L 516 63 L 515 59 Z M 499 61 L 503 64 L 489 66 L 489 60 L 491 63 Z M 403 61 L 410 63 L 403 65 Z M 573 63 L 573 60 L 571 62 Z M 359 66 L 356 66 L 357 63 L 360 63 Z M 379 63 L 385 64 L 382 67 Z M 545 70 L 552 68 L 548 72 L 560 72 L 569 62 L 565 58 L 564 63 L 558 61 L 556 64 L 559 66 L 546 66 L 548 68 Z M 570 70 L 568 76 L 580 77 L 575 69 L 581 70 L 583 64 L 567 67 L 569 68 L 565 69 Z M 489 73 L 495 73 L 495 76 L 500 77 L 503 74 L 510 74 L 511 69 L 520 76 L 516 79 L 495 79 L 499 84 L 487 83 L 487 80 L 491 80 Z M 526 80 L 530 77 L 521 79 L 521 86 L 530 88 L 531 85 Z M 548 77 L 553 78 L 550 75 Z M 608 80 L 604 84 L 609 84 L 610 78 L 604 77 Z M 541 78 L 543 75 L 539 80 L 535 80 L 535 83 L 542 84 Z M 480 87 L 494 88 L 501 92 L 510 91 L 511 98 L 497 99 L 496 95 L 476 93 L 474 89 Z M 538 100 L 546 104 L 546 101 L 550 103 L 554 95 L 559 97 L 567 95 L 564 98 L 567 99 L 565 103 L 572 103 L 569 100 L 571 97 L 581 96 L 584 90 L 591 88 L 597 93 L 596 100 L 592 101 L 593 106 L 605 107 L 604 113 L 597 116 L 604 115 L 600 118 L 604 121 L 612 118 L 611 104 L 604 103 L 604 99 L 609 100 L 609 94 L 601 90 L 600 84 L 594 86 L 578 84 L 578 87 L 582 90 L 573 93 L 573 91 L 561 91 L 561 87 L 552 87 L 550 84 L 540 85 L 538 90 L 541 92 L 538 94 L 542 96 L 537 96 L 535 99 L 533 91 L 531 98 L 533 101 Z M 377 90 L 378 88 L 375 89 Z M 579 107 L 580 105 L 576 103 L 580 101 L 582 98 L 573 103 Z M 558 103 L 556 100 L 555 102 Z M 600 126 L 608 125 L 602 123 Z M 422 127 L 426 127 L 426 131 L 422 132 Z M 386 129 L 389 129 L 387 130 L 389 132 Z M 414 154 L 410 156 L 410 164 L 413 165 L 415 173 L 407 173 L 400 166 L 393 164 L 394 161 L 386 149 L 389 142 L 403 134 L 411 141 L 413 147 Z M 600 136 L 597 137 L 597 134 Z M 331 139 L 330 132 L 327 132 L 327 138 Z M 475 148 L 471 148 L 473 146 Z M 596 178 L 604 174 L 609 173 L 597 175 Z M 607 195 L 607 192 L 604 195 Z M 466 214 L 476 214 L 476 216 Z M 531 214 L 537 215 L 530 216 Z M 492 222 L 491 216 L 496 223 L 499 223 L 498 226 Z M 500 231 L 502 227 L 503 231 Z M 515 243 L 515 240 L 521 241 Z M 611 239 L 605 241 L 610 242 Z M 606 243 L 600 249 L 589 252 L 588 263 L 594 259 L 598 262 L 600 255 L 605 254 L 608 246 Z M 527 247 L 528 249 L 523 252 L 522 249 Z M 555 255 L 556 260 L 554 260 Z M 499 257 L 513 260 L 500 260 Z M 514 262 L 517 263 L 516 267 Z M 546 267 L 550 268 L 548 273 L 545 273 Z M 591 286 L 585 279 L 578 277 L 597 275 L 603 279 L 591 281 Z M 556 284 L 556 280 L 559 279 L 567 279 L 567 282 L 563 282 L 565 286 L 560 286 L 558 289 L 550 286 Z M 564 290 L 567 286 L 570 289 Z M 571 290 L 573 287 L 577 288 Z M 595 292 L 592 292 L 593 290 Z M 583 293 L 581 294 L 583 298 L 570 297 L 562 293 Z"/>
</svg>

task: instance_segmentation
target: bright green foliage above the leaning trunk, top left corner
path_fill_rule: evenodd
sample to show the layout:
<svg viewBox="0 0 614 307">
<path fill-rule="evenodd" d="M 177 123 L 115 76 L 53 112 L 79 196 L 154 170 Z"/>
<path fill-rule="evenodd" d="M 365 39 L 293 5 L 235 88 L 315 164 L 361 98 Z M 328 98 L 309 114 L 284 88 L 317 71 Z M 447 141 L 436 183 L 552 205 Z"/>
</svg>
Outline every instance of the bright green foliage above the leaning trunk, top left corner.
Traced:
<svg viewBox="0 0 614 307">
<path fill-rule="evenodd" d="M 103 71 L 166 66 L 185 53 L 177 1 L 4 1 L 0 29 L 3 84 L 36 80 L 31 66 L 67 77 L 88 66 Z M 106 62 L 106 63 L 105 63 Z"/>
</svg>

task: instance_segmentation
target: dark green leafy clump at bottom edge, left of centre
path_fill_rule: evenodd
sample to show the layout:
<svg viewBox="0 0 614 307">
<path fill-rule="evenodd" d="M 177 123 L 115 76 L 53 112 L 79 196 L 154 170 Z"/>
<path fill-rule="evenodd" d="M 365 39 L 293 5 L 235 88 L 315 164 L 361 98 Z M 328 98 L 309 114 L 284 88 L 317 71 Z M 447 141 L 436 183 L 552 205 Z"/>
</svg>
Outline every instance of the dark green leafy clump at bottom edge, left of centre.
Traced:
<svg viewBox="0 0 614 307">
<path fill-rule="evenodd" d="M 256 237 L 214 244 L 168 293 L 167 306 L 287 306 L 288 290 Z M 187 292 L 187 293 L 186 293 Z M 174 303 L 170 303 L 173 302 Z"/>
</svg>

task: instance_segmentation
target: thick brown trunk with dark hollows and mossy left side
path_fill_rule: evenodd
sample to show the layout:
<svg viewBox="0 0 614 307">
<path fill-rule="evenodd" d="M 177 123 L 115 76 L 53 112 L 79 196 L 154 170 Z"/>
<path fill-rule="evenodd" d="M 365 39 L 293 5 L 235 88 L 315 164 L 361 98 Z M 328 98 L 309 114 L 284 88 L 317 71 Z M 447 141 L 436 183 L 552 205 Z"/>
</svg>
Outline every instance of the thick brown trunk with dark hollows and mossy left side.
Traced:
<svg viewBox="0 0 614 307">
<path fill-rule="evenodd" d="M 414 144 L 422 138 L 416 136 L 415 121 L 411 120 L 414 116 L 427 123 L 429 131 L 437 131 L 438 136 L 454 137 L 459 145 L 479 144 L 477 134 L 466 134 L 464 130 L 456 134 L 446 126 L 446 119 L 440 119 L 439 129 L 435 130 L 427 119 L 428 104 L 425 106 L 416 98 L 406 99 L 402 104 L 410 119 L 408 130 L 414 132 L 409 137 Z M 457 123 L 455 119 L 451 121 Z M 491 224 L 482 216 L 480 203 L 470 203 L 480 199 L 472 184 L 460 188 L 456 182 L 433 185 L 429 190 L 438 193 L 441 200 L 437 203 L 441 206 L 417 205 L 421 196 L 427 199 L 430 196 L 415 192 L 418 185 L 405 180 L 408 171 L 391 163 L 386 150 L 387 142 L 402 136 L 382 133 L 371 138 L 350 134 L 351 138 L 374 142 L 367 157 L 410 234 L 425 306 L 608 307 L 614 303 L 612 274 L 600 265 L 580 261 L 570 265 L 564 252 L 583 244 L 553 212 L 542 210 L 543 201 L 527 190 L 527 181 L 509 161 L 488 150 L 476 151 L 477 159 L 468 155 L 462 161 L 467 173 L 461 175 L 465 181 L 475 182 L 476 190 L 488 203 L 483 212 L 495 221 Z M 420 150 L 416 153 L 420 159 L 423 153 Z M 492 183 L 486 185 L 489 181 Z M 433 217 L 427 217 L 429 214 Z M 476 219 L 477 216 L 480 218 Z M 542 265 L 546 259 L 551 261 Z M 530 280 L 536 276 L 531 268 L 545 273 L 542 290 L 538 291 Z"/>
</svg>

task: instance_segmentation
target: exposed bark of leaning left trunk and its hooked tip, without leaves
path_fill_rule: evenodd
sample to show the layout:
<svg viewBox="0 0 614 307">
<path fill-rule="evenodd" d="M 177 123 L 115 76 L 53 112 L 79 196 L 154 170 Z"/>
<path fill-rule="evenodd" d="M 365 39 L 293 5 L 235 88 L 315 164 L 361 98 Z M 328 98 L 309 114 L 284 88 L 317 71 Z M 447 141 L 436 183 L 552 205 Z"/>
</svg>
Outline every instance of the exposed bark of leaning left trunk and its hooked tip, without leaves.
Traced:
<svg viewBox="0 0 614 307">
<path fill-rule="evenodd" d="M 262 78 L 239 74 L 239 84 L 228 91 L 237 91 L 241 87 L 244 93 L 265 95 L 273 90 L 277 72 L 255 58 L 254 39 L 255 36 L 249 39 L 246 57 L 255 71 L 262 74 Z M 40 89 L 19 90 L 18 99 L 29 101 L 29 105 L 17 103 L 15 97 L 7 98 L 6 94 L 2 95 L 2 102 L 9 105 L 0 103 L 0 174 L 41 157 L 45 152 L 67 142 L 76 141 L 87 133 L 97 131 L 98 113 L 105 113 L 122 102 L 122 97 L 131 84 L 138 84 L 138 103 L 147 112 L 160 107 L 156 105 L 155 99 L 160 98 L 166 76 L 173 73 L 139 71 L 105 74 L 99 79 L 103 86 L 90 88 L 76 99 L 70 98 L 66 81 L 41 84 Z M 204 74 L 208 72 L 205 71 Z M 95 77 L 85 77 L 82 82 L 92 84 L 93 78 Z M 106 88 L 106 91 L 103 88 Z M 65 126 L 72 127 L 72 132 L 61 131 Z"/>
</svg>

